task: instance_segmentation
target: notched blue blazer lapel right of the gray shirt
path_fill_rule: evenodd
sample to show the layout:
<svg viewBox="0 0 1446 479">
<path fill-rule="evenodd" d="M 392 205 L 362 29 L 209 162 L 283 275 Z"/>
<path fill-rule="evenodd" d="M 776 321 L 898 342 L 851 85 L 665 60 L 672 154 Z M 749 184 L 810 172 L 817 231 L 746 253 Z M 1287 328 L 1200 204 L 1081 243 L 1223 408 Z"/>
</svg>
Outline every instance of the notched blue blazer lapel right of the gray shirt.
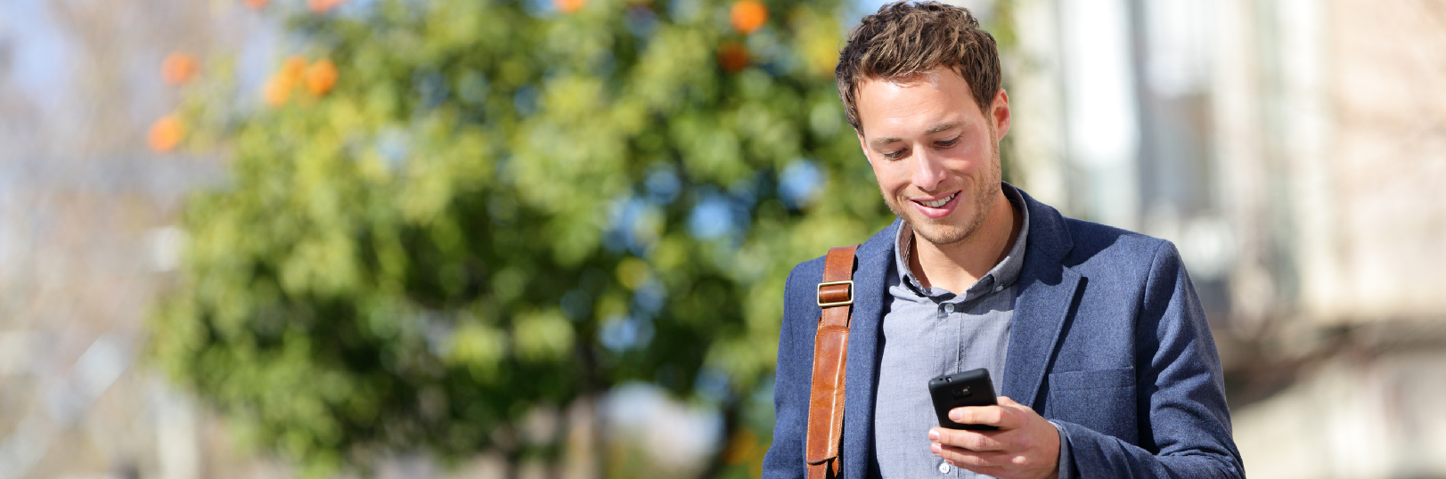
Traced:
<svg viewBox="0 0 1446 479">
<path fill-rule="evenodd" d="M 1022 190 L 1019 192 L 1030 207 L 1030 237 L 1017 287 L 1001 394 L 1035 407 L 1080 275 L 1061 262 L 1073 247 L 1064 217 Z"/>
</svg>

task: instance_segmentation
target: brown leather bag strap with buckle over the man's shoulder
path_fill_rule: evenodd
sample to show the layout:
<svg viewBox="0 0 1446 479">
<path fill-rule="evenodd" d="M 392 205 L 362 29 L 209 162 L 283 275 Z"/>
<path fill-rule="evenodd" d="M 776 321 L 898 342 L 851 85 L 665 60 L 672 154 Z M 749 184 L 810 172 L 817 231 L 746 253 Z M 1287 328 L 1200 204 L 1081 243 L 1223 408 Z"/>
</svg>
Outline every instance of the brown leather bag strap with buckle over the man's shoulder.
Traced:
<svg viewBox="0 0 1446 479">
<path fill-rule="evenodd" d="M 814 336 L 813 389 L 808 395 L 808 438 L 804 460 L 808 479 L 842 475 L 839 444 L 843 438 L 843 386 L 849 357 L 849 318 L 853 310 L 853 252 L 834 247 L 818 284 L 818 334 Z"/>
</svg>

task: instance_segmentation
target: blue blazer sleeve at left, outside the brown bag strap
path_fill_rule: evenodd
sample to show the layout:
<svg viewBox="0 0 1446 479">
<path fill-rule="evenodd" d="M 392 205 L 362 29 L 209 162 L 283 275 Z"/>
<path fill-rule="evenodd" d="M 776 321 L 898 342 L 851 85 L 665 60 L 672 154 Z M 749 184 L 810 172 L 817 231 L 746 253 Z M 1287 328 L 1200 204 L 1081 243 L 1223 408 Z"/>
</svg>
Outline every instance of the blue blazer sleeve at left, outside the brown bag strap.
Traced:
<svg viewBox="0 0 1446 479">
<path fill-rule="evenodd" d="M 823 262 L 801 263 L 788 275 L 784 289 L 784 318 L 778 331 L 778 366 L 774 376 L 774 443 L 763 456 L 763 478 L 804 478 L 804 438 L 808 423 L 808 392 L 813 379 L 813 339 L 818 330 L 818 307 L 805 301 L 821 278 Z"/>
</svg>

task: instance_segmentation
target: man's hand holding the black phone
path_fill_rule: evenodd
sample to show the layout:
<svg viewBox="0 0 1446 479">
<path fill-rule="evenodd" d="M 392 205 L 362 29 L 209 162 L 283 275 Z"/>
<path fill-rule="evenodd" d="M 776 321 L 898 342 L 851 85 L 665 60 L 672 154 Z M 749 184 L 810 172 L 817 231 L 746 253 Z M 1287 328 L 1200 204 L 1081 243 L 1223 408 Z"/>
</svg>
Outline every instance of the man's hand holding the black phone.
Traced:
<svg viewBox="0 0 1446 479">
<path fill-rule="evenodd" d="M 999 397 L 999 405 L 954 408 L 949 418 L 998 431 L 928 430 L 930 450 L 954 467 L 1001 479 L 1053 479 L 1060 466 L 1060 431 L 1034 410 Z"/>
</svg>

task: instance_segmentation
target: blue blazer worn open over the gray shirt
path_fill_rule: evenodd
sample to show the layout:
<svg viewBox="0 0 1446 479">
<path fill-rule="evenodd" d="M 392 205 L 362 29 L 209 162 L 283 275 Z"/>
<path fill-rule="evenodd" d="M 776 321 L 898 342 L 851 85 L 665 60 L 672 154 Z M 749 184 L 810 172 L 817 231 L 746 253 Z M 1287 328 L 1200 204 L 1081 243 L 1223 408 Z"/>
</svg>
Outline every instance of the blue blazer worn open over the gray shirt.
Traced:
<svg viewBox="0 0 1446 479">
<path fill-rule="evenodd" d="M 1061 424 L 1079 478 L 1244 478 L 1220 357 L 1174 245 L 1024 198 L 1030 237 L 1002 395 Z M 888 405 L 873 397 L 898 227 L 856 253 L 842 449 L 849 479 L 879 476 L 873 411 Z M 763 478 L 804 478 L 820 278 L 823 258 L 788 276 Z"/>
</svg>

